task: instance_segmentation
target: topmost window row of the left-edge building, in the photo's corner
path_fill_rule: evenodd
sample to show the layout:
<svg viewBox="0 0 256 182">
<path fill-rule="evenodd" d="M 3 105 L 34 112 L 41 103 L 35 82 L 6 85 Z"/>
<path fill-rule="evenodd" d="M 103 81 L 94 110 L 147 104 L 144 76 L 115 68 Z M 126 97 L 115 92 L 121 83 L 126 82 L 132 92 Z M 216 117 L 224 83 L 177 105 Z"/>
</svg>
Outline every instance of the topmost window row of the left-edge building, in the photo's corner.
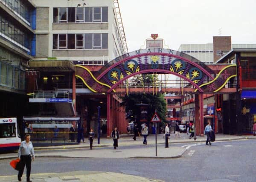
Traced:
<svg viewBox="0 0 256 182">
<path fill-rule="evenodd" d="M 29 10 L 29 7 L 25 4 L 24 0 L 2 0 L 2 1 L 30 23 L 31 12 Z"/>
</svg>

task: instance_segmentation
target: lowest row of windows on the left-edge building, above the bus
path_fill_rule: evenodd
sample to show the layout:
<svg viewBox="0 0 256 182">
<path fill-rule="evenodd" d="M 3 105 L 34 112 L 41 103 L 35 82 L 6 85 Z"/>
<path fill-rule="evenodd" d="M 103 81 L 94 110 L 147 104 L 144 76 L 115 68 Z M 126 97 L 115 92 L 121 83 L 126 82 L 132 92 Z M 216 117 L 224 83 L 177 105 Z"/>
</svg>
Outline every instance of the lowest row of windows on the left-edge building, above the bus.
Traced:
<svg viewBox="0 0 256 182">
<path fill-rule="evenodd" d="M 0 84 L 24 90 L 25 71 L 0 61 Z"/>
</svg>

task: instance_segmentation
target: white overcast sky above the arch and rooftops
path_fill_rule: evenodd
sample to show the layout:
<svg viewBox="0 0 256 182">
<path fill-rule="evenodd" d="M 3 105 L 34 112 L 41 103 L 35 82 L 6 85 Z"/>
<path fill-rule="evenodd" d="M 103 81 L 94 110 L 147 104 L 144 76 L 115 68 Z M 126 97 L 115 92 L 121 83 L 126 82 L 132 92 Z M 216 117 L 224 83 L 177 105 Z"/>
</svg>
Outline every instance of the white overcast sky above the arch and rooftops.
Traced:
<svg viewBox="0 0 256 182">
<path fill-rule="evenodd" d="M 129 52 L 153 33 L 174 50 L 212 43 L 219 29 L 232 43 L 256 43 L 256 0 L 119 0 L 119 6 Z"/>
</svg>

